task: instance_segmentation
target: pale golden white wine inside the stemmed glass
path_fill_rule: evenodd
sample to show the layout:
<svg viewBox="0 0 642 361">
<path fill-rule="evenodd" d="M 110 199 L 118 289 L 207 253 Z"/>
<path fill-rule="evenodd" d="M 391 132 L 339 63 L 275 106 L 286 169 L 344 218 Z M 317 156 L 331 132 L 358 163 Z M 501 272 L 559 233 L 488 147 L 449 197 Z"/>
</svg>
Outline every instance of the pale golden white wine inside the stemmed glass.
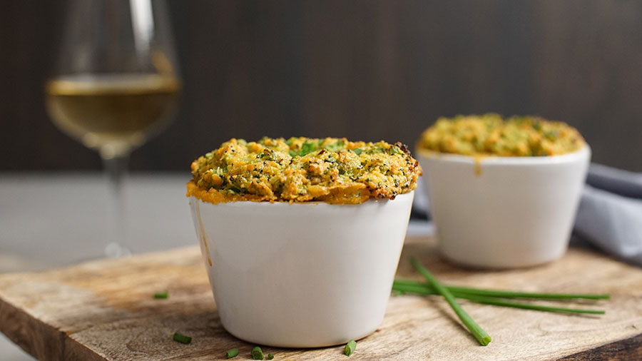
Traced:
<svg viewBox="0 0 642 361">
<path fill-rule="evenodd" d="M 180 84 L 158 74 L 81 74 L 46 83 L 54 123 L 103 156 L 124 156 L 163 126 Z"/>
</svg>

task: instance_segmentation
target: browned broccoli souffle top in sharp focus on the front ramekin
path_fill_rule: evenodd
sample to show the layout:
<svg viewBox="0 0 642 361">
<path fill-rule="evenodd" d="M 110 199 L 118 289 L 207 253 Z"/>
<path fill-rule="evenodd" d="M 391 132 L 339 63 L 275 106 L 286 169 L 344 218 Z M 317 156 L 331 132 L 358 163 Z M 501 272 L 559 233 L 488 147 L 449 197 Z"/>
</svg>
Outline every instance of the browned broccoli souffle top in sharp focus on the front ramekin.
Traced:
<svg viewBox="0 0 642 361">
<path fill-rule="evenodd" d="M 355 204 L 417 188 L 422 170 L 402 143 L 345 138 L 230 139 L 192 163 L 188 196 Z"/>
</svg>

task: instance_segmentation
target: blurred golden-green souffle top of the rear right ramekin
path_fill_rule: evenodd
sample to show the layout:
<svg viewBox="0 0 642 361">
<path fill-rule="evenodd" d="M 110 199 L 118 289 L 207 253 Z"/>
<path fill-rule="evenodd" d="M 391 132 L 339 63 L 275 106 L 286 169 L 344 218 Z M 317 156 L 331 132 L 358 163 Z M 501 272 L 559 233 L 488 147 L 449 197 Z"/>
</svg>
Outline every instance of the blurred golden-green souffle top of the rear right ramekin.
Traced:
<svg viewBox="0 0 642 361">
<path fill-rule="evenodd" d="M 417 148 L 466 156 L 556 156 L 584 146 L 576 128 L 536 116 L 499 114 L 439 118 L 422 133 Z"/>
</svg>

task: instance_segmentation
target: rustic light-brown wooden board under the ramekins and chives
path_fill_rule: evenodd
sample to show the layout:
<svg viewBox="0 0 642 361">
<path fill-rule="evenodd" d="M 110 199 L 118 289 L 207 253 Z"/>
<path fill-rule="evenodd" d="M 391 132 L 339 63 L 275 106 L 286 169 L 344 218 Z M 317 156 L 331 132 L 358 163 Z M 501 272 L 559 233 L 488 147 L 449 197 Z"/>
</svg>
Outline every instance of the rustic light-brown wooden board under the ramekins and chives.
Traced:
<svg viewBox="0 0 642 361">
<path fill-rule="evenodd" d="M 642 270 L 571 248 L 554 263 L 502 271 L 463 270 L 441 260 L 433 241 L 406 240 L 398 275 L 420 279 L 417 256 L 445 283 L 528 291 L 611 293 L 582 302 L 606 310 L 579 316 L 516 310 L 462 301 L 493 337 L 481 347 L 437 296 L 391 297 L 377 332 L 342 347 L 311 350 L 263 347 L 275 360 L 642 360 Z M 170 298 L 153 293 L 168 290 Z M 560 302 L 553 303 L 560 304 Z M 563 305 L 569 302 L 561 302 Z M 310 325 L 314 327 L 314 325 Z M 196 247 L 96 260 L 42 273 L 0 275 L 0 331 L 39 360 L 219 360 L 254 345 L 220 325 Z M 173 332 L 193 337 L 174 342 Z"/>
</svg>

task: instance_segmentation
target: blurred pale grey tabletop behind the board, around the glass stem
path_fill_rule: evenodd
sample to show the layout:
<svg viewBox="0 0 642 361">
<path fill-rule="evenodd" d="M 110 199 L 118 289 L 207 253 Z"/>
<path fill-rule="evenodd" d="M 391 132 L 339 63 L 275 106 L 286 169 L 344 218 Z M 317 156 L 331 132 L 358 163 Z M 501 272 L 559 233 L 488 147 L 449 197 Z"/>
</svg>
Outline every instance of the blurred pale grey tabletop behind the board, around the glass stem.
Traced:
<svg viewBox="0 0 642 361">
<path fill-rule="evenodd" d="M 125 199 L 133 253 L 194 245 L 185 198 L 188 173 L 135 173 Z M 103 257 L 111 234 L 100 173 L 0 174 L 0 273 L 44 270 Z M 34 360 L 4 336 L 0 359 Z"/>
</svg>

